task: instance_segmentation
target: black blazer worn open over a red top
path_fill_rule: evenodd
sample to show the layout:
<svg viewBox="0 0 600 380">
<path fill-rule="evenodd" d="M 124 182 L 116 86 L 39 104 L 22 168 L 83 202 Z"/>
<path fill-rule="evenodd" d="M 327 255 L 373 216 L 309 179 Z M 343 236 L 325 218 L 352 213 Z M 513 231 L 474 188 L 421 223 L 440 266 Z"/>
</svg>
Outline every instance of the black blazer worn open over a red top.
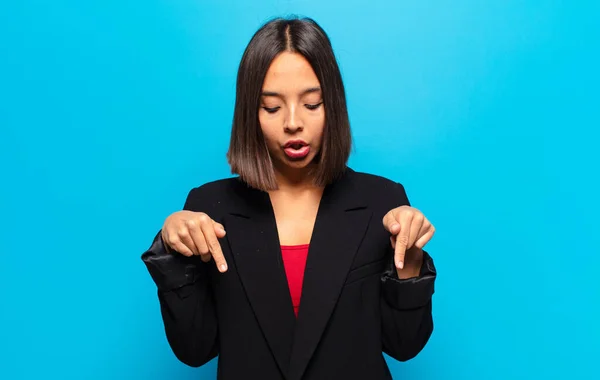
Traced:
<svg viewBox="0 0 600 380">
<path fill-rule="evenodd" d="M 228 271 L 169 254 L 160 234 L 142 255 L 179 360 L 218 358 L 218 379 L 391 379 L 382 352 L 414 357 L 433 330 L 435 268 L 399 280 L 382 218 L 407 205 L 402 185 L 350 169 L 325 188 L 293 311 L 269 196 L 239 179 L 193 189 L 184 208 L 222 223 Z"/>
</svg>

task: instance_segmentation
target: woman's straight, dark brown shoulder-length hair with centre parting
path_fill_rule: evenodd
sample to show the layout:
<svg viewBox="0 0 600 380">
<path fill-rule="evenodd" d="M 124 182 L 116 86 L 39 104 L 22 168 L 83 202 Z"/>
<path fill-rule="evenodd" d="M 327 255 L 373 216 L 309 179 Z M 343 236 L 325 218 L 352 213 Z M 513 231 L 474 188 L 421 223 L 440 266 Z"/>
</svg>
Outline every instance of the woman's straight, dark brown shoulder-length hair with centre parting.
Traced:
<svg viewBox="0 0 600 380">
<path fill-rule="evenodd" d="M 301 54 L 321 84 L 325 128 L 315 158 L 316 185 L 325 186 L 341 176 L 352 146 L 344 84 L 325 31 L 309 18 L 278 18 L 266 23 L 254 34 L 240 62 L 227 152 L 231 172 L 263 191 L 277 189 L 277 182 L 258 119 L 260 95 L 271 62 L 286 51 Z"/>
</svg>

